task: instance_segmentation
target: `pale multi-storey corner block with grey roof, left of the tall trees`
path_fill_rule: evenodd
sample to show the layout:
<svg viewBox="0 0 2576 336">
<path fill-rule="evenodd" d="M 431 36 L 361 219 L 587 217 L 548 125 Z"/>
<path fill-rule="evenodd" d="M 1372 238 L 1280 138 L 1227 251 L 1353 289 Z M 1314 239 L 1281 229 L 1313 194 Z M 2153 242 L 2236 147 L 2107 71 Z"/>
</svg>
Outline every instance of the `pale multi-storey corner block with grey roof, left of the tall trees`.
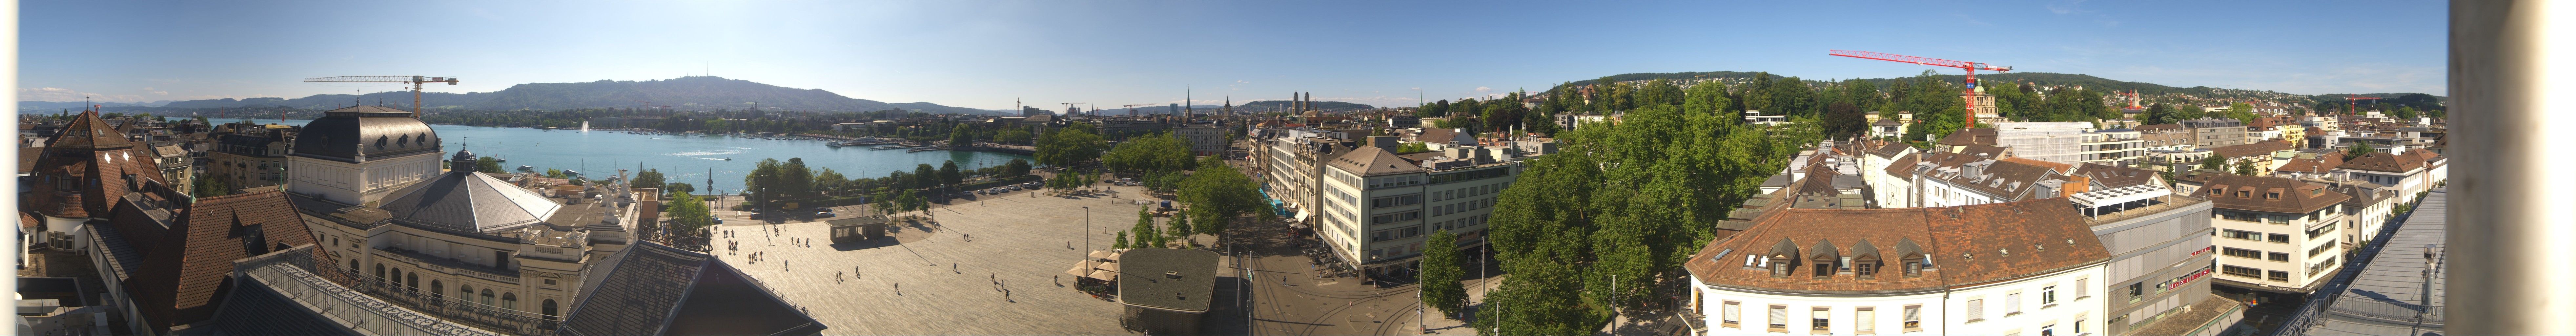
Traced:
<svg viewBox="0 0 2576 336">
<path fill-rule="evenodd" d="M 1484 147 L 1396 155 L 1394 137 L 1332 155 L 1321 165 L 1316 235 L 1363 271 L 1409 269 L 1425 248 L 1484 246 L 1494 199 L 1520 165 Z M 1430 233 L 1458 233 L 1458 246 L 1422 246 Z"/>
</svg>

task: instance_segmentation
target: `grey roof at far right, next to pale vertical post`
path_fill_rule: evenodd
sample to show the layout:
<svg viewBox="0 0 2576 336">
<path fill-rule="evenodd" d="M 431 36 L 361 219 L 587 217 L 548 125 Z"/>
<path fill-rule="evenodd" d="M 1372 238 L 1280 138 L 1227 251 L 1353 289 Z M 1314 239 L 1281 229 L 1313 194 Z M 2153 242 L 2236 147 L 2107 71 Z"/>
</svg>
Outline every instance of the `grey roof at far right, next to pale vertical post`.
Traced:
<svg viewBox="0 0 2576 336">
<path fill-rule="evenodd" d="M 2424 196 L 2424 204 L 2406 215 L 2403 222 L 2391 222 L 2396 233 L 2375 246 L 2378 253 L 2370 256 L 2357 274 L 2336 277 L 2342 292 L 2318 315 L 2324 323 L 2308 323 L 2311 336 L 2401 336 L 2401 333 L 2442 333 L 2447 320 L 2445 284 L 2450 264 L 2439 264 L 2432 274 L 2432 305 L 2424 302 L 2424 246 L 2445 246 L 2450 227 L 2442 225 L 2450 217 L 2447 189 L 2434 189 Z M 2329 284 L 2326 289 L 2334 289 Z M 2313 308 L 2311 308 L 2313 310 Z M 2416 313 L 2424 320 L 2416 323 Z"/>
</svg>

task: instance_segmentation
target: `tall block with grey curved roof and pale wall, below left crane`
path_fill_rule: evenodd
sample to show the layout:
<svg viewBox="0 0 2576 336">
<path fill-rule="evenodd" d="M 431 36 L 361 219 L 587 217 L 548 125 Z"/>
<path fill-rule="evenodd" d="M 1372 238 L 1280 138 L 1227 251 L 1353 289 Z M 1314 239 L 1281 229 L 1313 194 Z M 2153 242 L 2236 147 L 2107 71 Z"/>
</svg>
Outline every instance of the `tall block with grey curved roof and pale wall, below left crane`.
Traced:
<svg viewBox="0 0 2576 336">
<path fill-rule="evenodd" d="M 381 202 L 384 194 L 438 176 L 438 132 L 410 111 L 348 106 L 304 124 L 286 158 L 286 191 L 337 204 Z"/>
</svg>

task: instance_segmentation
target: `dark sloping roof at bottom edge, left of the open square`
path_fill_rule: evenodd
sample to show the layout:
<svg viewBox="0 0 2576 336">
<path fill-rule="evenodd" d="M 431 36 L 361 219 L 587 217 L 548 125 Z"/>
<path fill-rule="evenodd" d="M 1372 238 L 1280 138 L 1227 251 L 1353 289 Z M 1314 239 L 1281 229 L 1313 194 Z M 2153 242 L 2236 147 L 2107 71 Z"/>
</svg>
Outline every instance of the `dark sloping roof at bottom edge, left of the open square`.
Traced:
<svg viewBox="0 0 2576 336">
<path fill-rule="evenodd" d="M 567 336 L 781 336 L 824 326 L 757 282 L 696 251 L 652 240 L 621 251 L 564 315 Z"/>
</svg>

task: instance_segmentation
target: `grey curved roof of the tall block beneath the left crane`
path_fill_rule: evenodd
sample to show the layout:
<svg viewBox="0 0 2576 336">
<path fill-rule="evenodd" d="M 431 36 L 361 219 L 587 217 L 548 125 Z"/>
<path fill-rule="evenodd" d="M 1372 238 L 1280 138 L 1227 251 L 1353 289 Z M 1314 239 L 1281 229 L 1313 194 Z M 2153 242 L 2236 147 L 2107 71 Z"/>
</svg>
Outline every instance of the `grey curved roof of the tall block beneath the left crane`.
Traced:
<svg viewBox="0 0 2576 336">
<path fill-rule="evenodd" d="M 348 106 L 322 111 L 322 119 L 304 124 L 296 134 L 296 155 L 343 163 L 368 158 L 397 158 L 415 152 L 440 152 L 438 132 L 412 111 L 389 106 Z"/>
</svg>

